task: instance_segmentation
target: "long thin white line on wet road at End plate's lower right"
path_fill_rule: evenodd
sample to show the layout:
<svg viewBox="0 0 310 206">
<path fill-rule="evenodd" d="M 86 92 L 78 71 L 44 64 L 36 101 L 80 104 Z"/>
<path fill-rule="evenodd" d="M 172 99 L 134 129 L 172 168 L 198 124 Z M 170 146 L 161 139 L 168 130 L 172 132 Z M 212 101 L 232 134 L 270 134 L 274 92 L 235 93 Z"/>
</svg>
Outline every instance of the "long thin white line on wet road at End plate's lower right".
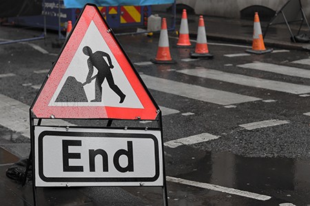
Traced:
<svg viewBox="0 0 310 206">
<path fill-rule="evenodd" d="M 196 181 L 189 181 L 186 179 L 180 179 L 180 178 L 176 178 L 176 177 L 172 177 L 172 176 L 166 176 L 166 180 L 169 182 L 173 182 L 173 183 L 180 183 L 183 185 L 200 187 L 200 188 L 204 188 L 207 190 L 214 190 L 217 192 L 225 192 L 227 194 L 234 194 L 234 195 L 238 195 L 238 196 L 244 196 L 247 198 L 253 198 L 253 199 L 256 199 L 259 201 L 267 201 L 271 198 L 271 196 L 267 196 L 267 195 L 263 195 L 263 194 L 257 194 L 254 192 L 236 190 L 234 188 L 223 187 L 223 186 L 219 186 L 219 185 L 212 185 L 209 183 L 200 183 L 200 182 L 196 182 Z"/>
</svg>

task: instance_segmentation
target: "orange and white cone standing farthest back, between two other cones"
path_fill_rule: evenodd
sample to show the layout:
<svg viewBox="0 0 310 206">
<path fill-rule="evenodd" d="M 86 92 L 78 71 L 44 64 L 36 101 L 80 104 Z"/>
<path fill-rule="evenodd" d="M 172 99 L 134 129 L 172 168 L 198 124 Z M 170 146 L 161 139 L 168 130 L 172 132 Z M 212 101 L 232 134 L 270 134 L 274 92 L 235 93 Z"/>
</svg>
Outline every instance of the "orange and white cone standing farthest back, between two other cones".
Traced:
<svg viewBox="0 0 310 206">
<path fill-rule="evenodd" d="M 187 23 L 187 13 L 186 10 L 183 10 L 182 19 L 180 23 L 180 34 L 178 35 L 177 47 L 191 47 L 192 44 L 189 42 L 189 31 Z"/>
</svg>

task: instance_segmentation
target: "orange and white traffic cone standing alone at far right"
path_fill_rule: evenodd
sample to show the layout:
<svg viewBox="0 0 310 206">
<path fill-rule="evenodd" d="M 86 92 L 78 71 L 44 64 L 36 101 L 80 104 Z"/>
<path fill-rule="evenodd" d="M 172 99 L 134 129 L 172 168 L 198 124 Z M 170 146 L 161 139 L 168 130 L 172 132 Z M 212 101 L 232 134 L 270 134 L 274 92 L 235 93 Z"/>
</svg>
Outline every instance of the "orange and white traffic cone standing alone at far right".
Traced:
<svg viewBox="0 0 310 206">
<path fill-rule="evenodd" d="M 272 52 L 273 49 L 266 49 L 264 40 L 262 39 L 262 29 L 260 27 L 260 18 L 258 17 L 258 12 L 254 15 L 254 32 L 253 32 L 253 43 L 252 49 L 247 49 L 245 52 L 253 54 L 265 54 Z"/>
</svg>

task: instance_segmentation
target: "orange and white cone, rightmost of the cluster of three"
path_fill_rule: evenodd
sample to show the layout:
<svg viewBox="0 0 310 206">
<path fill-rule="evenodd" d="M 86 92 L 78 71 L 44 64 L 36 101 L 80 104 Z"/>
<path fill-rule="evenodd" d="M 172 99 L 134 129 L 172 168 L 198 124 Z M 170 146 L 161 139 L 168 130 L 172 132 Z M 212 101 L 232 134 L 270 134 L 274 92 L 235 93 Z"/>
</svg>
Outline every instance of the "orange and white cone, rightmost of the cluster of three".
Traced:
<svg viewBox="0 0 310 206">
<path fill-rule="evenodd" d="M 213 58 L 213 55 L 209 54 L 207 35 L 205 34 L 205 21 L 203 21 L 203 16 L 199 16 L 195 52 L 191 52 L 190 56 L 192 58 Z"/>
</svg>

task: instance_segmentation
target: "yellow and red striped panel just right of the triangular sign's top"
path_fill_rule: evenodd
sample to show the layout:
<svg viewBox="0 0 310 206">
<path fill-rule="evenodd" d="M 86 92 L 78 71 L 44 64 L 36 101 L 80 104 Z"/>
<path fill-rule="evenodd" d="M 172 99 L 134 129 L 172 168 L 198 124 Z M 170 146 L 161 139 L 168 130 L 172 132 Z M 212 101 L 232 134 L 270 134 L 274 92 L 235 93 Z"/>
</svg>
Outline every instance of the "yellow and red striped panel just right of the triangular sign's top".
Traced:
<svg viewBox="0 0 310 206">
<path fill-rule="evenodd" d="M 124 5 L 121 14 L 121 23 L 141 22 L 141 6 Z"/>
</svg>

